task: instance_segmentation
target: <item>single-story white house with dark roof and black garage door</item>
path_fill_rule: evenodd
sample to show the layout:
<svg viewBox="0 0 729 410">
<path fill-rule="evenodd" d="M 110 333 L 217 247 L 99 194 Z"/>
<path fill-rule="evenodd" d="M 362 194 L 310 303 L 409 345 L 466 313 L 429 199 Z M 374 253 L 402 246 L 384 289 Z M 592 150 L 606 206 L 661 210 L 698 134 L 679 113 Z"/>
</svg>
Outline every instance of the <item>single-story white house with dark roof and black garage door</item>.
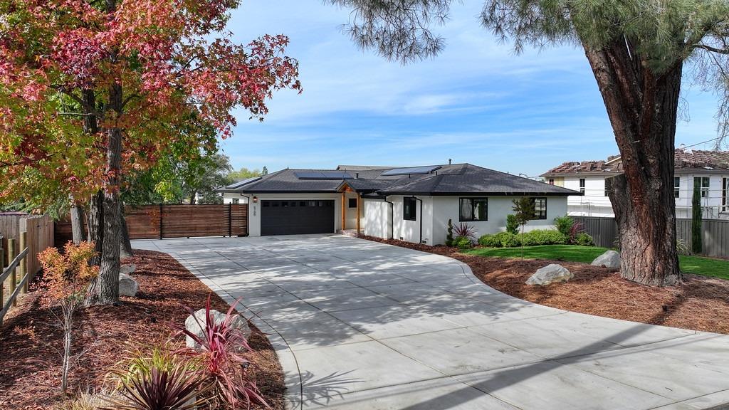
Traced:
<svg viewBox="0 0 729 410">
<path fill-rule="evenodd" d="M 443 244 L 448 220 L 479 235 L 504 231 L 512 200 L 534 198 L 527 229 L 547 228 L 579 193 L 468 163 L 410 168 L 338 166 L 283 169 L 219 190 L 225 203 L 249 207 L 252 236 L 334 233 Z"/>
</svg>

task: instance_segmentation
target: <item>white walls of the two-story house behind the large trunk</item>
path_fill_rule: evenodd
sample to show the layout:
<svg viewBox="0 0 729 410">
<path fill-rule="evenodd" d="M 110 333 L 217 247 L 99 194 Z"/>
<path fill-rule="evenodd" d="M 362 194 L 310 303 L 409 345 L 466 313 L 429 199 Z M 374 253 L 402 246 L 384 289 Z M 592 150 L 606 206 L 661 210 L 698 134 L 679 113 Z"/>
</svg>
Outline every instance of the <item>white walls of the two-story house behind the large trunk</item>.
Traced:
<svg viewBox="0 0 729 410">
<path fill-rule="evenodd" d="M 706 218 L 729 218 L 729 209 L 722 208 L 723 179 L 729 174 L 702 173 L 677 173 L 680 179 L 679 198 L 676 198 L 676 216 L 679 218 L 691 217 L 691 198 L 693 196 L 694 177 L 709 177 L 709 196 L 701 198 L 701 206 L 704 208 L 703 217 Z M 590 175 L 566 175 L 564 187 L 571 190 L 580 190 L 580 178 L 585 179 L 585 196 L 570 196 L 568 199 L 569 214 L 572 216 L 592 217 L 614 217 L 610 199 L 604 195 L 604 176 Z M 668 187 L 673 192 L 674 187 Z"/>
</svg>

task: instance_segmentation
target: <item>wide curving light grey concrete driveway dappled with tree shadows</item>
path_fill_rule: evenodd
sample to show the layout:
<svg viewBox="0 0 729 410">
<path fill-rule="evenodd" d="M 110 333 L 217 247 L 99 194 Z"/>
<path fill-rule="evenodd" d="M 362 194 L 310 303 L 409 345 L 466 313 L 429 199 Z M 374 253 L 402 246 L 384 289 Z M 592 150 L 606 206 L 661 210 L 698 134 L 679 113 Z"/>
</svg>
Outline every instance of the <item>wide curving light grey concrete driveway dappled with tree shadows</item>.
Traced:
<svg viewBox="0 0 729 410">
<path fill-rule="evenodd" d="M 440 255 L 346 236 L 135 241 L 243 304 L 292 409 L 707 409 L 729 337 L 566 312 Z M 728 312 L 729 313 L 729 312 Z"/>
</svg>

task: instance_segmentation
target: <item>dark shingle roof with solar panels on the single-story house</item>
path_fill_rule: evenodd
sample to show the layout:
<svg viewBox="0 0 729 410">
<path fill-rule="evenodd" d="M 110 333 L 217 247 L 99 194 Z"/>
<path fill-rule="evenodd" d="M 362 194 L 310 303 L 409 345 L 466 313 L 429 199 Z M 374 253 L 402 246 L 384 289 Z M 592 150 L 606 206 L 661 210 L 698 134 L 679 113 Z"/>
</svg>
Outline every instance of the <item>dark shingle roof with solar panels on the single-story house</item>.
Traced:
<svg viewBox="0 0 729 410">
<path fill-rule="evenodd" d="M 323 176 L 323 177 L 322 177 Z M 469 163 L 439 166 L 339 166 L 327 169 L 282 169 L 250 182 L 219 189 L 227 193 L 337 193 L 346 185 L 366 195 L 540 195 L 579 192 Z"/>
</svg>

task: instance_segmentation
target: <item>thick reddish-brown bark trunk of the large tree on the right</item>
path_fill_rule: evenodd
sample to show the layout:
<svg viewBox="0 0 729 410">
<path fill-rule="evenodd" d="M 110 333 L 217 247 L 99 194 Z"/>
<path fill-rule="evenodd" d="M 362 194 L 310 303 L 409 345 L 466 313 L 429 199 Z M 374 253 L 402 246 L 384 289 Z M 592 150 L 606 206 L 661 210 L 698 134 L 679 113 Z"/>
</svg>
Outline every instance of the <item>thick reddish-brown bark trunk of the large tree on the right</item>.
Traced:
<svg viewBox="0 0 729 410">
<path fill-rule="evenodd" d="M 651 286 L 682 281 L 673 195 L 682 62 L 656 74 L 623 37 L 601 50 L 585 47 L 603 96 L 623 174 L 609 179 L 620 237 L 620 273 Z"/>
</svg>

